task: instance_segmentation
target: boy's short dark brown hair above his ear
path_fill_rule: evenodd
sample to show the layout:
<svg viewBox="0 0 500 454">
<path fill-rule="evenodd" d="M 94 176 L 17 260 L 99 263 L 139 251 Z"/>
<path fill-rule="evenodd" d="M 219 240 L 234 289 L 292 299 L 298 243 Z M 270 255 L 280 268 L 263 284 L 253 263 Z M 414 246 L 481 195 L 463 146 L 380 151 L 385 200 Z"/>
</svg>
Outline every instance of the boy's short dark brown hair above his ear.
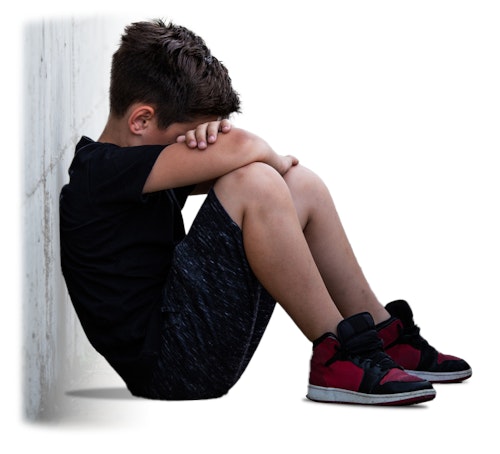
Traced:
<svg viewBox="0 0 500 454">
<path fill-rule="evenodd" d="M 240 110 L 227 69 L 204 41 L 161 20 L 127 26 L 113 55 L 111 113 L 121 118 L 134 103 L 153 106 L 160 129 Z"/>
</svg>

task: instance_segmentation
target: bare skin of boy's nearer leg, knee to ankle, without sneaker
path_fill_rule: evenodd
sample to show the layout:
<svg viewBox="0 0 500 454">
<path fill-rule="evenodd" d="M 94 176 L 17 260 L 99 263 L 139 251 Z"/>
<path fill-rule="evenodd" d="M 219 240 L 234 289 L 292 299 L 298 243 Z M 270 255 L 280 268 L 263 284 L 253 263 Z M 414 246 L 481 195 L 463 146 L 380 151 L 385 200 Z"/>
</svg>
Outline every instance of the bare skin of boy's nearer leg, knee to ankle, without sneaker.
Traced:
<svg viewBox="0 0 500 454">
<path fill-rule="evenodd" d="M 314 341 L 335 333 L 342 315 L 316 266 L 285 180 L 253 163 L 220 178 L 215 193 L 243 231 L 257 279 Z"/>
</svg>

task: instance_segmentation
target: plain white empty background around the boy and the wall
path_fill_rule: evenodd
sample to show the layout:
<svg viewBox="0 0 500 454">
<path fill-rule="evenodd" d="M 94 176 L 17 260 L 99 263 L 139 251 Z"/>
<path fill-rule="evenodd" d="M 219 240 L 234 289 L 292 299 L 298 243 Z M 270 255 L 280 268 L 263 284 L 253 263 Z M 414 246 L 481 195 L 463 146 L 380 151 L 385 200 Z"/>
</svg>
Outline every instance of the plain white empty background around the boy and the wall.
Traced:
<svg viewBox="0 0 500 454">
<path fill-rule="evenodd" d="M 9 62 L 2 65 L 4 442 L 53 452 L 498 449 L 491 416 L 499 404 L 497 2 L 16 5 L 1 29 Z M 241 94 L 244 113 L 235 123 L 327 181 L 380 299 L 407 298 L 423 334 L 469 360 L 472 379 L 438 386 L 436 400 L 412 408 L 307 402 L 310 346 L 278 311 L 247 373 L 223 399 L 143 402 L 118 393 L 80 398 L 82 414 L 71 422 L 22 422 L 20 29 L 27 19 L 96 14 L 164 17 L 203 36 Z"/>
</svg>

